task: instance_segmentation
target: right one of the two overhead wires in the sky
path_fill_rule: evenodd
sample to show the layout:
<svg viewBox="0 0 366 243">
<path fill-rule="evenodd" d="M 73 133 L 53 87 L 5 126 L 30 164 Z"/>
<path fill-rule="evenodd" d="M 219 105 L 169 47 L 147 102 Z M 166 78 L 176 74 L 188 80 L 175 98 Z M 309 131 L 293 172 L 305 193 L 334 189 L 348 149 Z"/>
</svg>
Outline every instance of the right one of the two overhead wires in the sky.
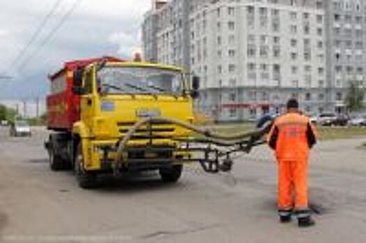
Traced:
<svg viewBox="0 0 366 243">
<path fill-rule="evenodd" d="M 65 24 L 67 18 L 69 18 L 70 15 L 72 15 L 74 10 L 76 10 L 76 8 L 80 2 L 81 2 L 81 0 L 76 0 L 76 1 L 74 1 L 74 3 L 72 3 L 72 6 L 69 8 L 69 10 L 67 10 L 67 12 L 65 12 L 65 15 L 63 15 L 63 17 L 61 17 L 60 21 L 56 24 L 56 26 L 54 26 L 54 28 L 51 29 L 51 31 L 49 31 L 48 35 L 46 35 L 43 42 L 40 45 L 38 45 L 38 47 L 36 49 L 34 49 L 33 52 L 31 52 L 31 54 L 28 56 L 28 58 L 26 58 L 23 62 L 20 63 L 20 65 L 17 66 L 17 69 L 20 69 L 20 68 L 24 69 L 24 67 L 26 67 L 26 65 L 29 63 L 29 61 L 32 58 L 34 58 L 35 55 L 40 53 L 40 51 L 48 44 L 48 42 L 51 40 L 51 38 L 54 37 L 54 34 L 61 28 L 61 26 L 63 26 L 63 24 Z"/>
</svg>

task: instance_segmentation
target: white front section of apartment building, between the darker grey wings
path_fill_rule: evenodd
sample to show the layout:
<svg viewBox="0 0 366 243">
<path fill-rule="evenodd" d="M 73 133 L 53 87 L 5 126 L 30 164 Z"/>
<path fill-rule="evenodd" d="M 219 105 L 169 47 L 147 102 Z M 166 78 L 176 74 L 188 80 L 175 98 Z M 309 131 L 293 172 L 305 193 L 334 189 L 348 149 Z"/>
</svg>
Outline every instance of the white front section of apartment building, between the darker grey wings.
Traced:
<svg viewBox="0 0 366 243">
<path fill-rule="evenodd" d="M 218 120 L 280 112 L 298 97 L 324 110 L 326 49 L 321 1 L 196 1 L 191 69 L 202 77 L 199 107 Z"/>
</svg>

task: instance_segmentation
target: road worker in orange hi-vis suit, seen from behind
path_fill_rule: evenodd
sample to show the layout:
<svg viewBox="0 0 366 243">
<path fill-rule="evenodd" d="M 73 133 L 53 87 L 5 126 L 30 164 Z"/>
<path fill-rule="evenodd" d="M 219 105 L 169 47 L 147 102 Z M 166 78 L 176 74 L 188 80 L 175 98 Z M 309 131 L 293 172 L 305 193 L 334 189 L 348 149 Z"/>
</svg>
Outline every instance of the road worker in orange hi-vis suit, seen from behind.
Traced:
<svg viewBox="0 0 366 243">
<path fill-rule="evenodd" d="M 289 222 L 292 212 L 300 227 L 315 221 L 308 207 L 308 158 L 317 142 L 310 119 L 299 111 L 299 102 L 289 99 L 287 112 L 277 117 L 268 135 L 268 144 L 278 160 L 278 215 L 280 222 Z"/>
</svg>

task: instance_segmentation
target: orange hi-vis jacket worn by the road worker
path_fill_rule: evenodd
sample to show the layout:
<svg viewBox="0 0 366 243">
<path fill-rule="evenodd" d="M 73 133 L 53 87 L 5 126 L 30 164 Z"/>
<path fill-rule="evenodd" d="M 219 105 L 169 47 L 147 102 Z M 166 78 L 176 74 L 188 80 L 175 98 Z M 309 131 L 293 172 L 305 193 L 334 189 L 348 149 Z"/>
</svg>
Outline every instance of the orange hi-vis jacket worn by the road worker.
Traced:
<svg viewBox="0 0 366 243">
<path fill-rule="evenodd" d="M 287 112 L 277 117 L 268 135 L 268 144 L 276 150 L 278 160 L 308 160 L 317 142 L 310 119 L 299 112 Z"/>
</svg>

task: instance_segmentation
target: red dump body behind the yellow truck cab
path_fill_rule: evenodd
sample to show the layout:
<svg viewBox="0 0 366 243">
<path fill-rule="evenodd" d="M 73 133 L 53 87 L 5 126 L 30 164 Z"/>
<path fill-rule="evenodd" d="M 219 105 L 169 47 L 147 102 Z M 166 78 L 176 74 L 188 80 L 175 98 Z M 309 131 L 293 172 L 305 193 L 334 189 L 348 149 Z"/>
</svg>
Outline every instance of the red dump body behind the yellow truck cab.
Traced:
<svg viewBox="0 0 366 243">
<path fill-rule="evenodd" d="M 54 131 L 72 131 L 72 125 L 80 119 L 80 96 L 72 92 L 73 72 L 90 63 L 107 60 L 120 62 L 113 57 L 91 58 L 65 62 L 63 69 L 49 76 L 50 94 L 46 98 L 47 128 Z"/>
</svg>

